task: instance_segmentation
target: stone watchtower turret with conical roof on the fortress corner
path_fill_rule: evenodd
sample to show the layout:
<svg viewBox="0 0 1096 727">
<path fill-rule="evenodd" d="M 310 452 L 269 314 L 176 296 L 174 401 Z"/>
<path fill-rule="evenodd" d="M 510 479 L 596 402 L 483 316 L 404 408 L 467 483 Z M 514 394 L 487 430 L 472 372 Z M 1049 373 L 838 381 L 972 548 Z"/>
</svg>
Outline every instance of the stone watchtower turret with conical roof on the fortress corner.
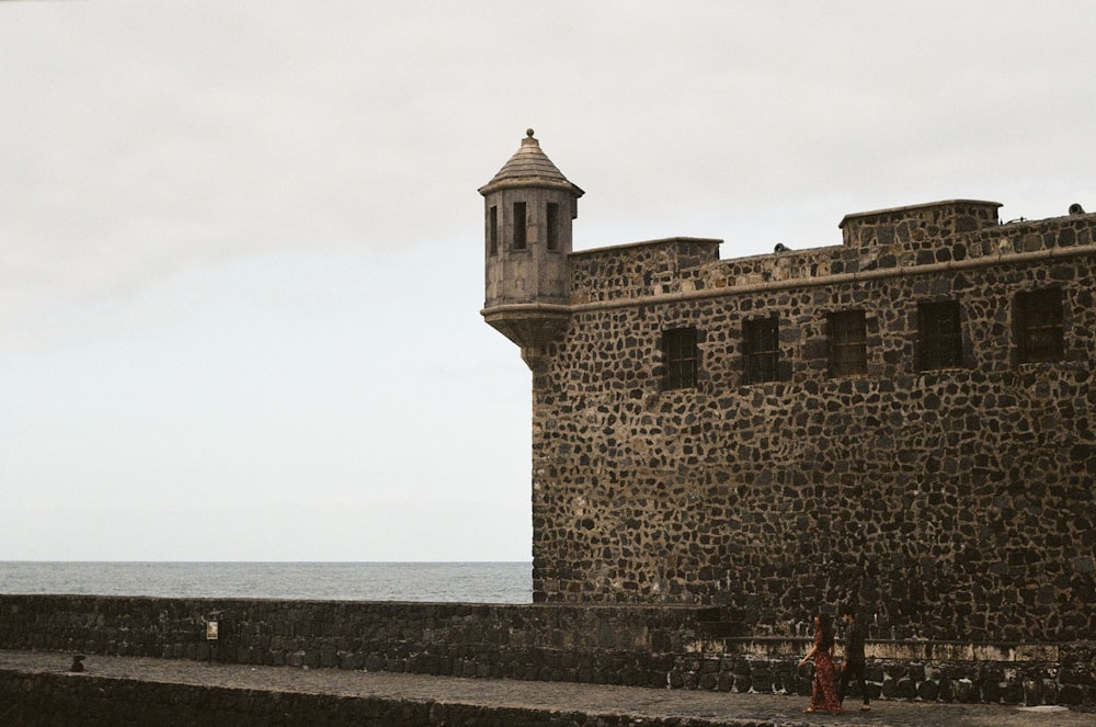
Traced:
<svg viewBox="0 0 1096 727">
<path fill-rule="evenodd" d="M 526 132 L 522 147 L 484 198 L 483 318 L 522 348 L 529 368 L 567 326 L 571 220 L 583 191 L 567 180 Z"/>
</svg>

